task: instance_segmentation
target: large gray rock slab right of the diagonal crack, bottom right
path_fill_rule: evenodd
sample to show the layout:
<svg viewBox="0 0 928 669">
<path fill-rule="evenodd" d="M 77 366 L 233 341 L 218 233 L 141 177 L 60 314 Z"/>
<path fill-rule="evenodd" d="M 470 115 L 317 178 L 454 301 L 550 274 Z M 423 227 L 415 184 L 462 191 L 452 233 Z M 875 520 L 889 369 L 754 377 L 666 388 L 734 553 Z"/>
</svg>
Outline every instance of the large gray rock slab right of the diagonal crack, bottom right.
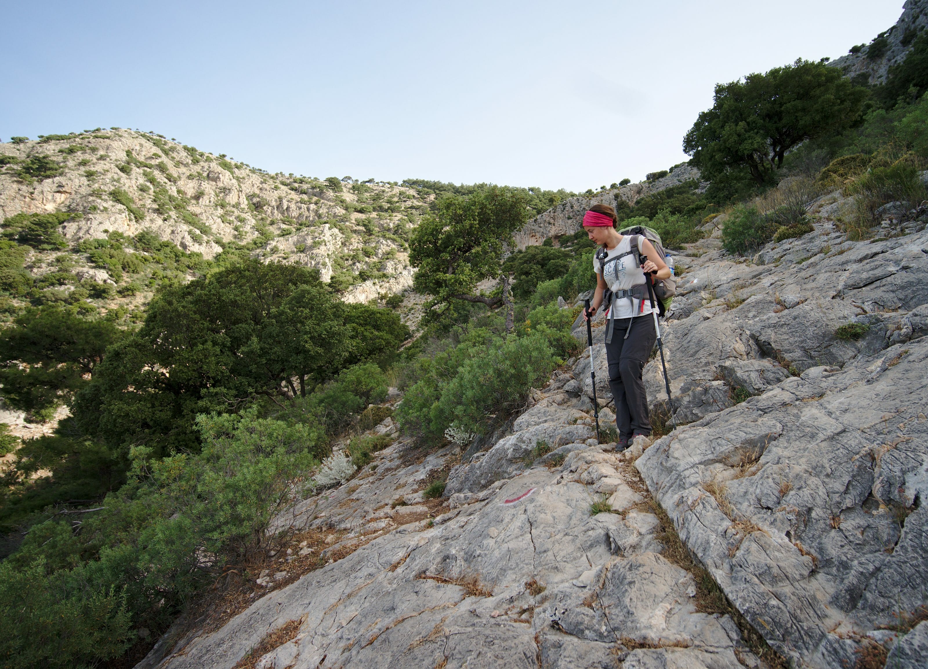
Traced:
<svg viewBox="0 0 928 669">
<path fill-rule="evenodd" d="M 818 367 L 660 439 L 637 466 L 767 641 L 835 666 L 928 600 L 928 339 Z"/>
</svg>

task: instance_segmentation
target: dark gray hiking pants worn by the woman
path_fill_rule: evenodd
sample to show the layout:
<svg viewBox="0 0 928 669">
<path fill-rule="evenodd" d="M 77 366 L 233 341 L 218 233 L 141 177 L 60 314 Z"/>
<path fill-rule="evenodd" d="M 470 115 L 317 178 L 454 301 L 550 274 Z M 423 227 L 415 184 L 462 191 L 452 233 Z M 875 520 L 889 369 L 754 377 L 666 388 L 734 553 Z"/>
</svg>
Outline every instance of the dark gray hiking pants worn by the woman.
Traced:
<svg viewBox="0 0 928 669">
<path fill-rule="evenodd" d="M 609 387 L 615 400 L 615 425 L 619 436 L 631 439 L 633 435 L 651 434 L 648 416 L 648 398 L 641 380 L 641 370 L 651 356 L 657 341 L 654 317 L 644 314 L 632 318 L 631 331 L 625 338 L 629 319 L 616 319 L 612 342 L 606 344 L 609 361 Z"/>
</svg>

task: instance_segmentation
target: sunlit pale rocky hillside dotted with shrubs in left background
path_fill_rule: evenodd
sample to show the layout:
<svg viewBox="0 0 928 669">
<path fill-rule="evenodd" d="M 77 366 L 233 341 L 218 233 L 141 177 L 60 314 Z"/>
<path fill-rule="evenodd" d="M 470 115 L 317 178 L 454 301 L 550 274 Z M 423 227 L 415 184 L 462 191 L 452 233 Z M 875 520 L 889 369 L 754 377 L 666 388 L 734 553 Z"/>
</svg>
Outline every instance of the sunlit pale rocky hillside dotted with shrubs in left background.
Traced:
<svg viewBox="0 0 928 669">
<path fill-rule="evenodd" d="M 0 166 L 0 217 L 75 214 L 61 226 L 70 271 L 99 283 L 119 281 L 74 245 L 148 230 L 186 254 L 213 258 L 238 244 L 313 267 L 347 301 L 366 302 L 411 285 L 406 241 L 431 199 L 391 183 L 268 174 L 125 129 L 16 138 L 0 144 Z M 28 267 L 51 271 L 61 253 L 32 251 Z"/>
</svg>

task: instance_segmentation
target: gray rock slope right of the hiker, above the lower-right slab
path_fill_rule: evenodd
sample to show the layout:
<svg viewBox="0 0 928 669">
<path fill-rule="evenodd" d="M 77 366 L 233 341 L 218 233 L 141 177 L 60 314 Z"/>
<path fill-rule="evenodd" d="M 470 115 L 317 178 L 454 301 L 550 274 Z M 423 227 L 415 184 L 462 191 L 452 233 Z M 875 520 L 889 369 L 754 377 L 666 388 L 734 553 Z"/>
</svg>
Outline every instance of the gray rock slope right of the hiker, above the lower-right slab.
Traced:
<svg viewBox="0 0 928 669">
<path fill-rule="evenodd" d="M 924 223 L 890 239 L 846 242 L 830 217 L 842 202 L 840 193 L 819 199 L 812 208 L 814 232 L 768 244 L 753 261 L 706 252 L 711 239 L 693 245 L 699 257 L 678 256 L 680 295 L 662 326 L 677 424 L 727 408 L 736 388 L 757 395 L 787 375 L 840 367 L 925 334 Z M 870 329 L 859 340 L 838 337 L 849 322 Z M 600 389 L 597 362 L 601 393 L 606 388 Z M 658 358 L 643 377 L 652 409 L 663 408 Z"/>
</svg>

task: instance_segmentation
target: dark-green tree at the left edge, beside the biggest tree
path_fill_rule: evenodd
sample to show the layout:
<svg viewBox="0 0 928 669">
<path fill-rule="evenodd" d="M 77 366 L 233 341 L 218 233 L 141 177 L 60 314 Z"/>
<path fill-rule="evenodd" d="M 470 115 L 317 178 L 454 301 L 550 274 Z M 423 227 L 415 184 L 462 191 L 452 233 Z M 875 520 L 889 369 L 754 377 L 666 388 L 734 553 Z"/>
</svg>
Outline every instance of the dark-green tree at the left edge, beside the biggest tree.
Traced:
<svg viewBox="0 0 928 669">
<path fill-rule="evenodd" d="M 73 308 L 29 309 L 0 332 L 0 395 L 47 420 L 121 337 L 112 322 L 87 321 Z"/>
</svg>

